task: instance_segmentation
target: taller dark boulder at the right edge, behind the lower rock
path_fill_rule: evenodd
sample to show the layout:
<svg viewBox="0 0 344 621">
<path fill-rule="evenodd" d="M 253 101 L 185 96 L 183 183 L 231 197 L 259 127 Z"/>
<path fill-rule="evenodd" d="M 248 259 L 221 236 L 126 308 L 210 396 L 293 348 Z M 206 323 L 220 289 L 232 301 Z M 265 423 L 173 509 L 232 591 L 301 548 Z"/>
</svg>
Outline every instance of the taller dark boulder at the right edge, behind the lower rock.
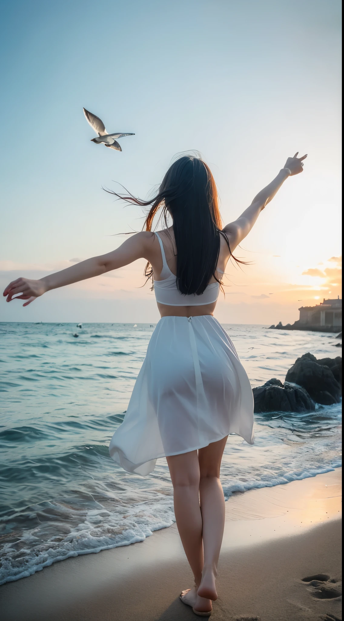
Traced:
<svg viewBox="0 0 344 621">
<path fill-rule="evenodd" d="M 332 358 L 322 358 L 322 361 L 329 360 L 332 363 Z M 315 402 L 321 403 L 324 406 L 330 406 L 333 403 L 340 402 L 342 389 L 337 379 L 335 379 L 332 369 L 327 365 L 323 365 L 322 361 L 317 360 L 309 352 L 305 353 L 289 369 L 286 374 L 286 382 L 302 386 Z M 340 363 L 342 363 L 341 358 Z M 337 374 L 336 366 L 336 364 L 333 365 L 333 370 Z"/>
</svg>

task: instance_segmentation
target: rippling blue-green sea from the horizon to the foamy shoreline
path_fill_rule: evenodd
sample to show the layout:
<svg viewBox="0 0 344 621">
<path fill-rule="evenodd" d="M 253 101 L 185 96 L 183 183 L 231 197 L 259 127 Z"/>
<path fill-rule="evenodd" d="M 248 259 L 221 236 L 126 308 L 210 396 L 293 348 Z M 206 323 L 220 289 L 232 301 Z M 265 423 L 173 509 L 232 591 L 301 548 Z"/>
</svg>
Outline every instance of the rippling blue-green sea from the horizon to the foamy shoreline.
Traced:
<svg viewBox="0 0 344 621">
<path fill-rule="evenodd" d="M 0 584 L 172 525 L 165 459 L 143 478 L 108 454 L 155 324 L 0 323 Z M 252 387 L 298 356 L 342 355 L 335 335 L 224 325 Z M 77 335 L 77 336 L 76 336 Z M 228 438 L 226 500 L 342 465 L 341 404 L 255 415 L 255 444 Z"/>
</svg>

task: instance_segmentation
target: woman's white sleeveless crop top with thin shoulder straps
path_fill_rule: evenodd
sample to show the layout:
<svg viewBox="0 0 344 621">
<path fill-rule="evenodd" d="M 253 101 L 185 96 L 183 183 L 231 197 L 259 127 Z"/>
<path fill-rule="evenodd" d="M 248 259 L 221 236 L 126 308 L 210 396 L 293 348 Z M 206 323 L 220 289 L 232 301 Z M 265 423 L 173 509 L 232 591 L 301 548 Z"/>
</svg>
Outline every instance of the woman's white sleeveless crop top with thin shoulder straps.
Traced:
<svg viewBox="0 0 344 621">
<path fill-rule="evenodd" d="M 208 284 L 199 296 L 195 293 L 185 295 L 179 291 L 177 288 L 177 278 L 175 274 L 172 274 L 167 265 L 161 238 L 157 233 L 155 235 L 159 240 L 162 256 L 162 280 L 154 280 L 156 301 L 167 306 L 202 306 L 202 304 L 213 304 L 213 302 L 216 302 L 219 297 L 219 283 Z M 217 271 L 221 272 L 221 270 Z"/>
</svg>

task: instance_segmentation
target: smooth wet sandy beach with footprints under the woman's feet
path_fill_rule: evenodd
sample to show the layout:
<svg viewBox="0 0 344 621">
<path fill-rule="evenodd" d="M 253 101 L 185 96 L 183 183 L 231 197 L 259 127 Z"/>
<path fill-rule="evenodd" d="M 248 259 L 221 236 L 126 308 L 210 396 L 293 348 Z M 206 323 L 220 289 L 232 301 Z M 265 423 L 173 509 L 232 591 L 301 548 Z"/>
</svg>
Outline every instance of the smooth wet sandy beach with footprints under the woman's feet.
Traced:
<svg viewBox="0 0 344 621">
<path fill-rule="evenodd" d="M 235 494 L 226 502 L 211 619 L 342 619 L 342 469 Z M 312 576 L 321 581 L 312 582 Z M 302 579 L 309 578 L 308 581 Z M 192 586 L 177 528 L 78 556 L 0 587 L 2 621 L 182 621 Z"/>
</svg>

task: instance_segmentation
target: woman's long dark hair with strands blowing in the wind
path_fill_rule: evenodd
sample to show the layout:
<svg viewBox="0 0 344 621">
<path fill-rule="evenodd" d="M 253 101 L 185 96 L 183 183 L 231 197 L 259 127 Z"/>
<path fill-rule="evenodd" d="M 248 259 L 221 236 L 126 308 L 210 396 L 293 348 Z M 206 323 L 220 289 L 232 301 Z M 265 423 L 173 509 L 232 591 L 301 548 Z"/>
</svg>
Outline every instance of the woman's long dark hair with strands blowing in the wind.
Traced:
<svg viewBox="0 0 344 621">
<path fill-rule="evenodd" d="M 162 218 L 166 227 L 168 215 L 172 216 L 177 250 L 176 279 L 180 292 L 185 295 L 200 295 L 212 276 L 221 286 L 221 281 L 216 276 L 220 235 L 223 235 L 228 248 L 229 242 L 221 230 L 216 184 L 204 161 L 191 155 L 184 155 L 176 160 L 162 179 L 156 196 L 150 201 L 141 201 L 131 194 L 113 194 L 141 207 L 151 206 L 143 230 L 152 230 L 153 220 L 159 209 L 162 209 L 159 220 Z M 233 258 L 235 259 L 234 256 Z M 147 263 L 144 274 L 148 279 L 152 278 L 150 263 Z"/>
</svg>

